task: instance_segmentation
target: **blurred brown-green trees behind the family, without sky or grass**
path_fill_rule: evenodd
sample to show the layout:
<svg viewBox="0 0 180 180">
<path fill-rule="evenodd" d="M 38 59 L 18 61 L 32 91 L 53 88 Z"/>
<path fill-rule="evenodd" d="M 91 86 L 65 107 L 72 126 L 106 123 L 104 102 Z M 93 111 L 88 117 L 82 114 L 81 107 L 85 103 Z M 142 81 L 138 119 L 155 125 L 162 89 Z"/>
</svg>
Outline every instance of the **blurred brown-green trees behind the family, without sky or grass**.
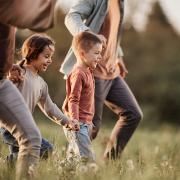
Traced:
<svg viewBox="0 0 180 180">
<path fill-rule="evenodd" d="M 32 32 L 18 31 L 17 49 Z M 72 36 L 64 26 L 64 14 L 59 11 L 58 24 L 47 32 L 56 41 L 54 61 L 42 74 L 49 85 L 52 99 L 62 106 L 65 81 L 59 67 L 68 51 Z M 145 31 L 136 32 L 128 24 L 122 46 L 129 69 L 127 81 L 143 108 L 148 121 L 176 122 L 180 119 L 180 37 L 168 23 L 158 3 L 154 4 Z M 105 116 L 114 115 L 105 110 Z"/>
</svg>

